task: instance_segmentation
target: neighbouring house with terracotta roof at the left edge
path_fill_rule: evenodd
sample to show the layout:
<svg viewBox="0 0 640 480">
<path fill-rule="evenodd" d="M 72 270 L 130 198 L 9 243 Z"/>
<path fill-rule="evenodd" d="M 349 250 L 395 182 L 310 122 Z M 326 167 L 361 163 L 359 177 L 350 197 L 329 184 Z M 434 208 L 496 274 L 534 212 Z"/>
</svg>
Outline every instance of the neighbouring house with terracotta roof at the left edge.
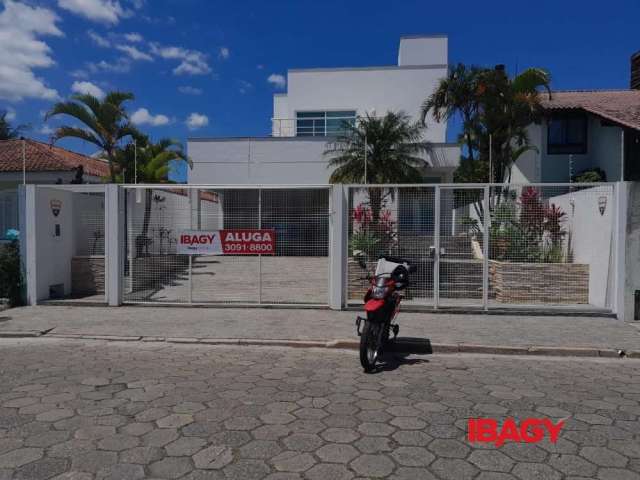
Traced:
<svg viewBox="0 0 640 480">
<path fill-rule="evenodd" d="M 68 184 L 79 166 L 84 170 L 84 183 L 102 183 L 109 175 L 105 161 L 64 148 L 30 139 L 0 141 L 0 241 L 7 230 L 18 228 L 17 191 L 24 179 L 26 183 Z"/>
</svg>

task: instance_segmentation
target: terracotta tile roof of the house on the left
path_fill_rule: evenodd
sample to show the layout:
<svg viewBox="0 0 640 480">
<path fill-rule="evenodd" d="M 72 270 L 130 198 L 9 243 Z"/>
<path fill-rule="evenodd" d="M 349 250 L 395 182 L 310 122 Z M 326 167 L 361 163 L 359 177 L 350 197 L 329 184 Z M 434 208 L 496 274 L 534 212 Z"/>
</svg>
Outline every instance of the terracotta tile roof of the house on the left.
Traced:
<svg viewBox="0 0 640 480">
<path fill-rule="evenodd" d="M 104 160 L 35 140 L 25 140 L 25 157 L 28 172 L 68 172 L 82 165 L 85 175 L 94 177 L 109 175 L 109 165 Z M 0 141 L 0 172 L 21 171 L 22 140 Z"/>
</svg>

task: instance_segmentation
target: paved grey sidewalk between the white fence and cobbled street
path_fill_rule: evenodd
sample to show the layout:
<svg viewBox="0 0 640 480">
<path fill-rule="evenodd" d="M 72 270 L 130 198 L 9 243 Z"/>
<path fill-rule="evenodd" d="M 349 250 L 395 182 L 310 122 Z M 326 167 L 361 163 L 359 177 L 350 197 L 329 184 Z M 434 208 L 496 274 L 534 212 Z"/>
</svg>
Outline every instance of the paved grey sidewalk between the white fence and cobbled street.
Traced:
<svg viewBox="0 0 640 480">
<path fill-rule="evenodd" d="M 304 342 L 299 346 L 351 348 L 358 340 L 356 315 L 357 312 L 273 308 L 38 306 L 0 312 L 0 337 L 46 332 L 49 336 L 181 342 L 204 339 L 209 343 L 284 340 Z M 617 350 L 624 350 L 640 358 L 640 322 L 599 317 L 404 312 L 398 323 L 400 336 L 428 338 L 436 352 L 615 356 Z"/>
</svg>

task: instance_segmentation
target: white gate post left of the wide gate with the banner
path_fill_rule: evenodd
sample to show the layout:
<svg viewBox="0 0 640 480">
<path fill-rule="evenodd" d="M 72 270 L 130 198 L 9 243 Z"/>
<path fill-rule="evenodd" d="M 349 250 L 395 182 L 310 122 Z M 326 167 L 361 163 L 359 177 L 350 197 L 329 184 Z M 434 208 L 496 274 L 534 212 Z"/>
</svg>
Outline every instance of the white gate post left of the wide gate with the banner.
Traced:
<svg viewBox="0 0 640 480">
<path fill-rule="evenodd" d="M 122 305 L 124 249 L 124 192 L 118 185 L 105 185 L 105 294 L 110 307 Z"/>
</svg>

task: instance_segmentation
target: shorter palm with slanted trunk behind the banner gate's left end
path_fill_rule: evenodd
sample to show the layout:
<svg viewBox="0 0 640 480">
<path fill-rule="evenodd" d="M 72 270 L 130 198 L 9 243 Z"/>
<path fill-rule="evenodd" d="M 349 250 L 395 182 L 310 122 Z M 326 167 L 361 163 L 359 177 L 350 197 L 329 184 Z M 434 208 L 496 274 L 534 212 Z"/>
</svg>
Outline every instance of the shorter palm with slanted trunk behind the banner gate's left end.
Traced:
<svg viewBox="0 0 640 480">
<path fill-rule="evenodd" d="M 116 164 L 121 167 L 121 173 L 116 177 L 118 181 L 131 182 L 135 176 L 139 183 L 174 183 L 169 179 L 169 172 L 174 162 L 186 162 L 189 168 L 193 167 L 193 162 L 184 152 L 180 142 L 163 138 L 153 143 L 148 137 L 139 134 L 135 138 L 136 144 L 129 143 L 116 153 Z M 145 188 L 144 192 L 144 218 L 142 232 L 136 238 L 136 256 L 142 255 L 142 250 L 149 242 L 147 234 L 151 221 L 153 189 Z"/>
</svg>

